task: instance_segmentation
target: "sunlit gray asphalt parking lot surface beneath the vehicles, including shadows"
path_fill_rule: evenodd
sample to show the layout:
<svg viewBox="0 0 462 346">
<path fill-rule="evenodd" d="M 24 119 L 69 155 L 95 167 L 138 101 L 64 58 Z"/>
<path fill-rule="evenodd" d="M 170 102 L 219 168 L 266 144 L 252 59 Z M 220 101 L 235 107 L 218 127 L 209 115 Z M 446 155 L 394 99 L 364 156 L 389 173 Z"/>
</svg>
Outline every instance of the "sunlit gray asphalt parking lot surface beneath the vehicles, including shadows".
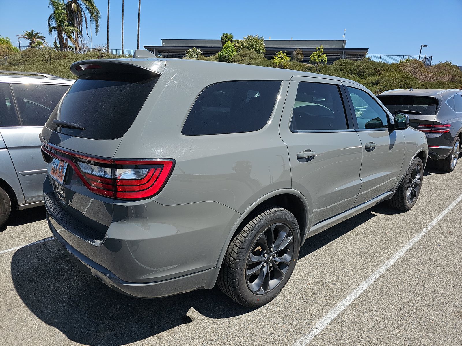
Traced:
<svg viewBox="0 0 462 346">
<path fill-rule="evenodd" d="M 123 296 L 48 240 L 43 207 L 16 212 L 0 230 L 0 345 L 462 345 L 462 201 L 447 211 L 462 194 L 462 163 L 427 167 L 423 182 L 410 212 L 380 204 L 308 239 L 287 286 L 255 310 L 218 287 Z"/>
</svg>

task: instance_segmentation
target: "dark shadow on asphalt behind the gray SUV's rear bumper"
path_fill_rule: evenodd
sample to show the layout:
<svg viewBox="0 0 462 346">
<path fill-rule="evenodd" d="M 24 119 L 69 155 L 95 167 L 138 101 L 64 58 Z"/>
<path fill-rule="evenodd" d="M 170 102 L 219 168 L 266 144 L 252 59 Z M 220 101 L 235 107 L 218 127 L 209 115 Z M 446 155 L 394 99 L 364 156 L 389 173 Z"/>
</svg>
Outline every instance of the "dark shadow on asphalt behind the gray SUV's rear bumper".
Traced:
<svg viewBox="0 0 462 346">
<path fill-rule="evenodd" d="M 85 345 L 125 345 L 194 320 L 245 314 L 217 286 L 158 299 L 115 292 L 85 274 L 55 244 L 26 246 L 12 257 L 11 274 L 19 297 L 43 322 Z"/>
</svg>

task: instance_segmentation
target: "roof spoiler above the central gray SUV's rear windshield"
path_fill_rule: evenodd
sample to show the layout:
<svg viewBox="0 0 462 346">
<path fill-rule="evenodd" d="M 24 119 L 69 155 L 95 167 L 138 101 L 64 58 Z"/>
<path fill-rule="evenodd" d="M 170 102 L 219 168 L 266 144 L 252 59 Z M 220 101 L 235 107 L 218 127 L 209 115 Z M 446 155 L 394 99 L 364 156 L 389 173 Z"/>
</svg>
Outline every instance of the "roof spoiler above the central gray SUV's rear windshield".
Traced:
<svg viewBox="0 0 462 346">
<path fill-rule="evenodd" d="M 70 68 L 77 77 L 108 72 L 161 75 L 164 69 L 165 61 L 146 58 L 82 60 L 74 62 Z"/>
</svg>

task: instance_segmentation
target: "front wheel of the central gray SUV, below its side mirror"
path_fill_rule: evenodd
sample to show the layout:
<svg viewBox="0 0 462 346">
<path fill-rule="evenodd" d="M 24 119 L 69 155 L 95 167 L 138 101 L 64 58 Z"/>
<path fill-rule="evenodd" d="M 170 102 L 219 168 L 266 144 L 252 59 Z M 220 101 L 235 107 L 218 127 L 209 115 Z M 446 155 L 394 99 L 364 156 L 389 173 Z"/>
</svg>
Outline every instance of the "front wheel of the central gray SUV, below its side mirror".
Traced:
<svg viewBox="0 0 462 346">
<path fill-rule="evenodd" d="M 388 200 L 388 205 L 402 211 L 411 210 L 420 194 L 424 178 L 423 173 L 424 164 L 419 157 L 416 157 L 407 168 L 395 194 Z M 408 195 L 409 190 L 410 195 Z"/>
</svg>

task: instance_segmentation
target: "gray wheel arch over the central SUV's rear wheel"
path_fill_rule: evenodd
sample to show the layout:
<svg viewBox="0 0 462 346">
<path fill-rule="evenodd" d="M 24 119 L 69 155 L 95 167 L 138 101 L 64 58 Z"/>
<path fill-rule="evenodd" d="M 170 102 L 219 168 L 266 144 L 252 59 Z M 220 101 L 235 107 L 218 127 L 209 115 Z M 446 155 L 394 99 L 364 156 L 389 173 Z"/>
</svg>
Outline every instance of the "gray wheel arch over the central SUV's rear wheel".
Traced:
<svg viewBox="0 0 462 346">
<path fill-rule="evenodd" d="M 239 233 L 241 228 L 249 220 L 249 215 L 252 212 L 265 204 L 277 205 L 281 208 L 289 210 L 297 219 L 300 228 L 300 246 L 303 245 L 307 228 L 310 208 L 303 194 L 293 189 L 281 189 L 268 193 L 267 195 L 258 198 L 252 203 L 239 217 L 234 226 L 231 228 L 230 234 L 226 238 L 225 244 L 221 249 L 220 256 L 217 261 L 217 268 L 221 267 L 221 263 L 225 257 L 226 250 L 228 249 L 231 240 Z"/>
</svg>

